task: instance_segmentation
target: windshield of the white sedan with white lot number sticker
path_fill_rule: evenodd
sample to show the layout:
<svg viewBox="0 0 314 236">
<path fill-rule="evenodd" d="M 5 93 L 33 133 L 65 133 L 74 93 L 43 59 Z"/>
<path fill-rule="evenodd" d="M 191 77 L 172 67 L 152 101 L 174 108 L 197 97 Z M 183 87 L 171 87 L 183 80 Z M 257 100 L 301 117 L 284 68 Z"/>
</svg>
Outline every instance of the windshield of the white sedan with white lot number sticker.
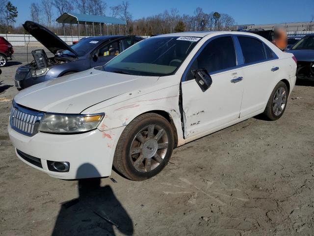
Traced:
<svg viewBox="0 0 314 236">
<path fill-rule="evenodd" d="M 172 75 L 200 39 L 178 36 L 151 37 L 136 43 L 109 61 L 104 65 L 104 70 L 131 75 Z"/>
</svg>

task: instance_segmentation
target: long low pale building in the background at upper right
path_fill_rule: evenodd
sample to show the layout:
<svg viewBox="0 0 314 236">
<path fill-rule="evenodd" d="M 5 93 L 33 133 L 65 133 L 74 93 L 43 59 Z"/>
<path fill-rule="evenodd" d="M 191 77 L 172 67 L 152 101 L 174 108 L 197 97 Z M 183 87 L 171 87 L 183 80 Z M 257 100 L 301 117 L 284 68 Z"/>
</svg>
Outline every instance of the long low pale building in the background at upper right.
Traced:
<svg viewBox="0 0 314 236">
<path fill-rule="evenodd" d="M 314 22 L 293 22 L 293 23 L 280 23 L 280 24 L 265 24 L 265 25 L 236 25 L 238 30 L 250 30 L 250 29 L 274 29 L 276 26 L 281 26 L 286 31 L 310 31 L 314 30 Z"/>
</svg>

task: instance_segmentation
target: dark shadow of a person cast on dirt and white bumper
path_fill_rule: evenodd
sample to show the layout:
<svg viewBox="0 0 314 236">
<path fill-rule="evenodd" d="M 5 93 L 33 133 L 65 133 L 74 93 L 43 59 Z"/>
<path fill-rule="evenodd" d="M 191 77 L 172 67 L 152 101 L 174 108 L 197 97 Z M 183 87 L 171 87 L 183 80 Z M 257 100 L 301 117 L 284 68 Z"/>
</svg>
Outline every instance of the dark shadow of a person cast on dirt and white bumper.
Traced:
<svg viewBox="0 0 314 236">
<path fill-rule="evenodd" d="M 97 172 L 91 164 L 83 164 L 80 172 Z M 62 203 L 52 236 L 114 236 L 115 230 L 133 235 L 133 223 L 115 197 L 111 187 L 101 187 L 100 178 L 78 180 L 78 198 Z"/>
</svg>

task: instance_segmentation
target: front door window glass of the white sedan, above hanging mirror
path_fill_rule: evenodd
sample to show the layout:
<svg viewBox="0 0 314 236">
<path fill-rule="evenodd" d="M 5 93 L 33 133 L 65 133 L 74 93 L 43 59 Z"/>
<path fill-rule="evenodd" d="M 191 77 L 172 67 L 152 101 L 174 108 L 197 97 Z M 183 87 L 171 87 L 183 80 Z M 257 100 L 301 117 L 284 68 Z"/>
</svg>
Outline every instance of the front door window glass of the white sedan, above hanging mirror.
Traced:
<svg viewBox="0 0 314 236">
<path fill-rule="evenodd" d="M 236 66 L 235 46 L 231 36 L 211 40 L 193 61 L 186 80 L 194 79 L 194 70 L 205 68 L 209 74 Z"/>
</svg>

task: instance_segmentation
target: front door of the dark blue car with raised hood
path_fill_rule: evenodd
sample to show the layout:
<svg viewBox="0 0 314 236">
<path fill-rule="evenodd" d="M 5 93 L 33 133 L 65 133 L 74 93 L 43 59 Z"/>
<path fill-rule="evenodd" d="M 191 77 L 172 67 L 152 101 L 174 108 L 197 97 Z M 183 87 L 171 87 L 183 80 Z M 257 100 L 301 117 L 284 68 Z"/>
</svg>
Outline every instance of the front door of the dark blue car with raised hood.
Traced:
<svg viewBox="0 0 314 236">
<path fill-rule="evenodd" d="M 120 40 L 106 43 L 92 53 L 90 59 L 91 67 L 105 65 L 105 63 L 119 55 L 121 52 L 122 44 Z"/>
</svg>

